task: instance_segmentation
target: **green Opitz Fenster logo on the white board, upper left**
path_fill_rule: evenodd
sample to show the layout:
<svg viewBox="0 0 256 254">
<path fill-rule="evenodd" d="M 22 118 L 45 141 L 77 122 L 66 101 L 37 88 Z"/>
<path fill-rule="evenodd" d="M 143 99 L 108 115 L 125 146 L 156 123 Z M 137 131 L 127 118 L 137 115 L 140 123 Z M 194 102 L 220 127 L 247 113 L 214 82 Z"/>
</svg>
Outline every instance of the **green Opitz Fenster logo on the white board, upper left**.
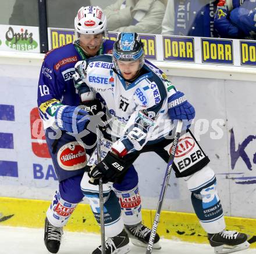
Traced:
<svg viewBox="0 0 256 254">
<path fill-rule="evenodd" d="M 20 32 L 15 32 L 12 27 L 9 27 L 5 38 L 5 44 L 11 49 L 27 51 L 34 50 L 38 46 L 38 43 L 33 39 L 33 33 L 28 32 L 27 29 L 24 30 L 24 28 L 20 28 Z"/>
</svg>

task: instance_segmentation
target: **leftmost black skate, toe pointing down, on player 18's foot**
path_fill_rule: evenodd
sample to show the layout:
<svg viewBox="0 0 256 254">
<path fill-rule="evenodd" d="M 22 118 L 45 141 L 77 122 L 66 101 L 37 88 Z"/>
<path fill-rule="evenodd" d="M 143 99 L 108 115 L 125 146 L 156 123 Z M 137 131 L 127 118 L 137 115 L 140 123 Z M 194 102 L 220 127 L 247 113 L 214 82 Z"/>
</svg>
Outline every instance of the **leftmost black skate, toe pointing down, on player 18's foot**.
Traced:
<svg viewBox="0 0 256 254">
<path fill-rule="evenodd" d="M 49 223 L 46 217 L 44 227 L 44 244 L 49 252 L 57 253 L 59 251 L 59 246 L 61 246 L 62 234 L 62 227 L 52 226 L 52 224 Z"/>
</svg>

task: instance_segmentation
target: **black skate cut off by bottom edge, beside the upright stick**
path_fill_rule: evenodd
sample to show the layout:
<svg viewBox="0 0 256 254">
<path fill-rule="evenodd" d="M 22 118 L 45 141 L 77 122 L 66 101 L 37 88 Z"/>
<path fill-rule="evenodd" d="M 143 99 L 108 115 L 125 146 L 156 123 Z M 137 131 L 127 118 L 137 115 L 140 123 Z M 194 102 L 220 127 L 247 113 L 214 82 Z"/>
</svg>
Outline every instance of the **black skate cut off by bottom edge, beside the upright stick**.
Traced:
<svg viewBox="0 0 256 254">
<path fill-rule="evenodd" d="M 123 231 L 116 235 L 116 237 L 108 237 L 105 241 L 106 254 L 126 254 L 130 252 L 129 237 L 123 229 Z M 93 251 L 93 254 L 101 254 L 101 245 Z"/>
</svg>

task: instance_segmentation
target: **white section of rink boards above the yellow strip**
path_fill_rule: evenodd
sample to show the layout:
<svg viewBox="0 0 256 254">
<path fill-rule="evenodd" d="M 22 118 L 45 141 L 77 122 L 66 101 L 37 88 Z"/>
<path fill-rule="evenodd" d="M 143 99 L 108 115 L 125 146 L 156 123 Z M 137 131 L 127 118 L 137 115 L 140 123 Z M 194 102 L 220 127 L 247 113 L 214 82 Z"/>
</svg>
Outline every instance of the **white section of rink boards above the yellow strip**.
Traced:
<svg viewBox="0 0 256 254">
<path fill-rule="evenodd" d="M 15 60 L 0 63 L 0 196 L 51 200 L 58 180 L 37 110 L 40 66 Z M 168 74 L 196 109 L 191 131 L 211 159 L 224 214 L 256 219 L 256 78 L 177 77 L 172 68 Z M 155 209 L 166 164 L 145 153 L 134 167 L 143 208 Z M 163 210 L 193 212 L 190 195 L 183 179 L 172 173 Z"/>
</svg>

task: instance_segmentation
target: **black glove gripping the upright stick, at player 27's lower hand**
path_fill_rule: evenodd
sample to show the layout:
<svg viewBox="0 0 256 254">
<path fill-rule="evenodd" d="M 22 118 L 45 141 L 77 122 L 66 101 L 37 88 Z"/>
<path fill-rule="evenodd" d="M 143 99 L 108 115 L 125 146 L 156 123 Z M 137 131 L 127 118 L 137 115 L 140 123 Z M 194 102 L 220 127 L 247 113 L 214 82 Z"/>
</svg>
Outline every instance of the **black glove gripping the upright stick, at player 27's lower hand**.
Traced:
<svg viewBox="0 0 256 254">
<path fill-rule="evenodd" d="M 89 183 L 94 185 L 99 184 L 99 177 L 102 177 L 103 183 L 118 182 L 119 177 L 122 176 L 128 168 L 129 166 L 126 165 L 123 158 L 108 152 L 101 162 L 91 167 L 88 173 L 88 176 L 91 177 Z"/>
</svg>

